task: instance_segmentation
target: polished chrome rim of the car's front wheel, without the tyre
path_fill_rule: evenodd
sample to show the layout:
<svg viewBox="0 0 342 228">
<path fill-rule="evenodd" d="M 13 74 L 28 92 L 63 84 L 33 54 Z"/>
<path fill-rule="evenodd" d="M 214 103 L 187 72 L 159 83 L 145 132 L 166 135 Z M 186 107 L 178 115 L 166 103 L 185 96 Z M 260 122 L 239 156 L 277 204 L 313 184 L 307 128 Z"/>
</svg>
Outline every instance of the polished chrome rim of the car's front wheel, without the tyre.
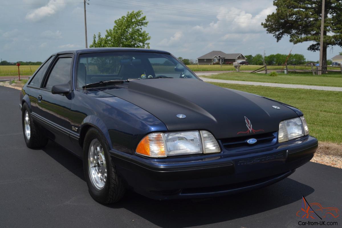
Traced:
<svg viewBox="0 0 342 228">
<path fill-rule="evenodd" d="M 107 165 L 105 152 L 97 139 L 93 139 L 90 143 L 88 166 L 91 182 L 97 189 L 103 189 L 107 180 Z"/>
</svg>

